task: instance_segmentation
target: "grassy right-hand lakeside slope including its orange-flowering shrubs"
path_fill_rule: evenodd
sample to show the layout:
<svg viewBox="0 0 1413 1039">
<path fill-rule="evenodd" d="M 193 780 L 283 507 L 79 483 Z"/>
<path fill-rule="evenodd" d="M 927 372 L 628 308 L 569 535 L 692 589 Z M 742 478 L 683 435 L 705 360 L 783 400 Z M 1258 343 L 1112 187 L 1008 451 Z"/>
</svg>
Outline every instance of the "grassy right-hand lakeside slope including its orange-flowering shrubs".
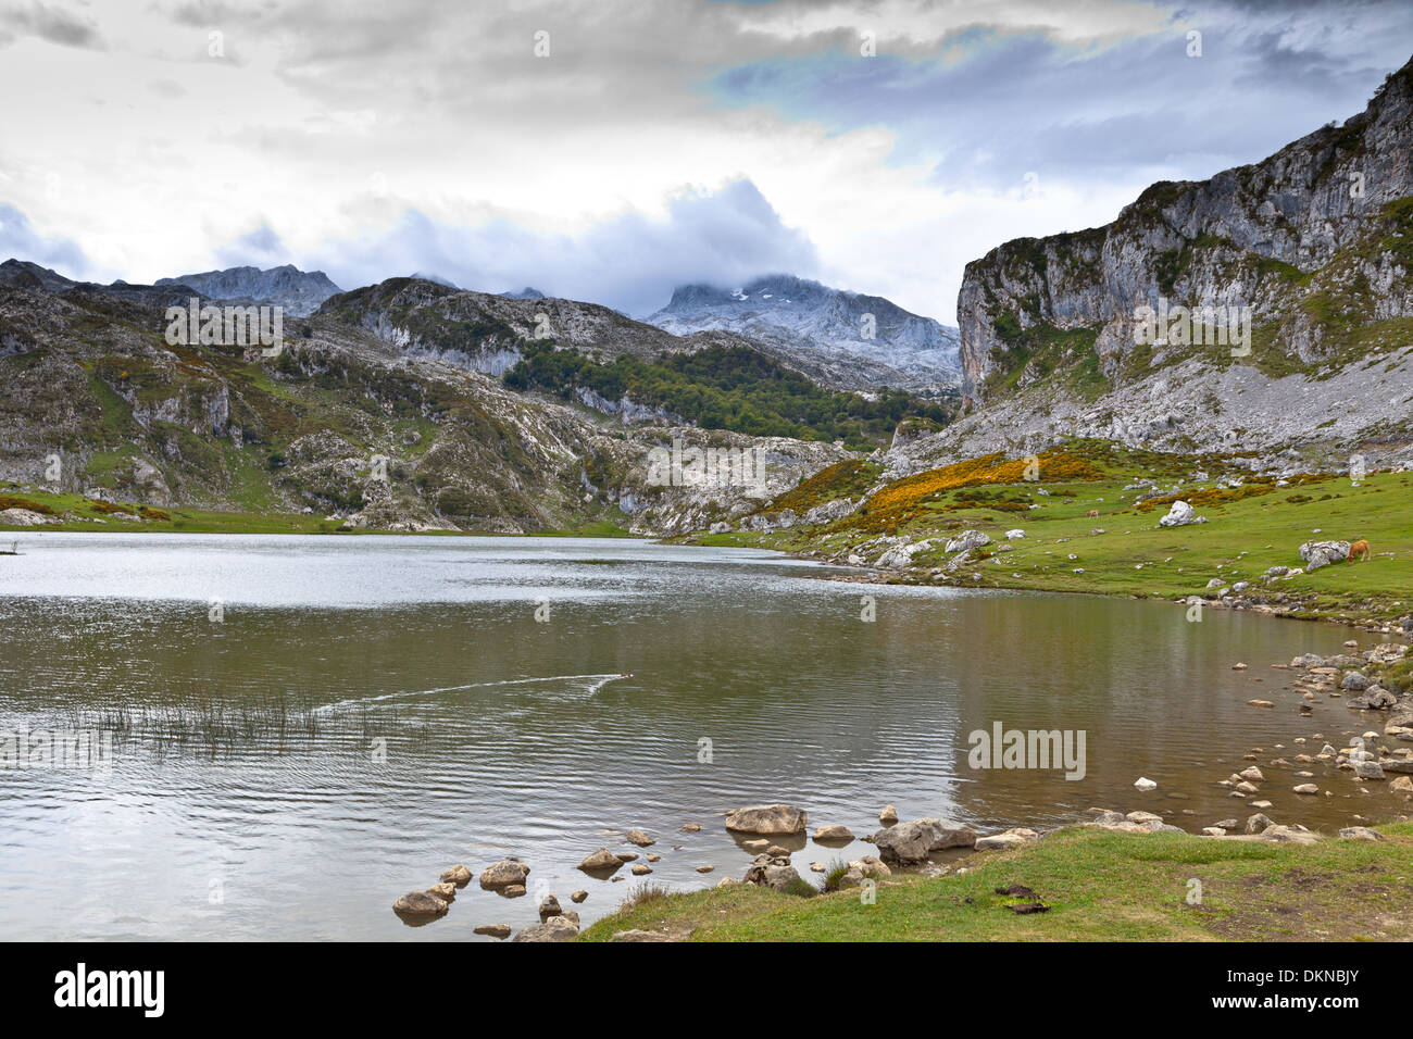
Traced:
<svg viewBox="0 0 1413 1039">
<path fill-rule="evenodd" d="M 885 573 L 892 581 L 1176 599 L 1214 595 L 1207 585 L 1217 578 L 1228 588 L 1248 581 L 1239 598 L 1289 616 L 1359 621 L 1413 612 L 1413 474 L 1378 472 L 1358 485 L 1347 476 L 1303 475 L 1277 485 L 1253 478 L 1239 455 L 1157 454 L 1099 441 L 1046 452 L 1036 482 L 1024 479 L 1023 462 L 986 461 L 876 488 L 855 513 L 828 523 L 692 540 L 875 564 L 887 547 L 883 539 L 892 537 L 930 541 L 906 568 Z M 814 486 L 797 489 L 808 493 L 791 492 L 800 500 L 787 495 L 777 506 L 803 515 L 836 498 L 856 499 L 870 474 L 836 468 L 832 485 L 821 474 Z M 1228 476 L 1242 485 L 1221 485 Z M 1140 481 L 1156 486 L 1135 486 Z M 1177 499 L 1207 522 L 1159 527 Z M 1024 536 L 1007 540 L 1006 532 L 1016 529 Z M 964 530 L 979 530 L 992 543 L 958 563 L 945 546 Z M 1270 567 L 1303 567 L 1304 541 L 1359 539 L 1372 547 L 1368 563 L 1262 581 Z"/>
</svg>

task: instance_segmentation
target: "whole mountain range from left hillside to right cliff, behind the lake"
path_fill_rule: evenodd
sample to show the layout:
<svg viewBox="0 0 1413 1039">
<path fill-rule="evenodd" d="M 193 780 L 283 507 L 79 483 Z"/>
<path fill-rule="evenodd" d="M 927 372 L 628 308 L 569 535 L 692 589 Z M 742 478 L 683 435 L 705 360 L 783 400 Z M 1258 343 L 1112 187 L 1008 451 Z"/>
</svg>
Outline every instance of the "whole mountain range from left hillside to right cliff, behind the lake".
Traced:
<svg viewBox="0 0 1413 1039">
<path fill-rule="evenodd" d="M 285 349 L 168 345 L 164 308 L 192 294 L 281 303 Z M 1259 163 L 996 246 L 966 266 L 958 325 L 784 274 L 681 286 L 634 321 L 424 277 L 97 286 L 8 260 L 0 478 L 42 483 L 58 455 L 59 489 L 129 500 L 673 533 L 735 523 L 870 447 L 887 475 L 1067 437 L 1407 461 L 1413 62 L 1362 113 Z M 649 452 L 673 438 L 763 451 L 770 491 L 654 483 Z M 373 455 L 386 482 L 366 475 Z"/>
</svg>

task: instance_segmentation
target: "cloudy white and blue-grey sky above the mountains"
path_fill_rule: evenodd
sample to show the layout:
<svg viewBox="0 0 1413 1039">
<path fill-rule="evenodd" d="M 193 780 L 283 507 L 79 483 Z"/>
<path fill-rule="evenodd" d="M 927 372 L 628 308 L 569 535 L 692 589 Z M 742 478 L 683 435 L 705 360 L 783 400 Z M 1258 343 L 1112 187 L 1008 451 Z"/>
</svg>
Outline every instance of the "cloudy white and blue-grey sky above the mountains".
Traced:
<svg viewBox="0 0 1413 1039">
<path fill-rule="evenodd" d="M 952 322 L 992 246 L 1259 160 L 1410 57 L 1406 0 L 0 0 L 0 259 L 634 315 L 788 271 Z"/>
</svg>

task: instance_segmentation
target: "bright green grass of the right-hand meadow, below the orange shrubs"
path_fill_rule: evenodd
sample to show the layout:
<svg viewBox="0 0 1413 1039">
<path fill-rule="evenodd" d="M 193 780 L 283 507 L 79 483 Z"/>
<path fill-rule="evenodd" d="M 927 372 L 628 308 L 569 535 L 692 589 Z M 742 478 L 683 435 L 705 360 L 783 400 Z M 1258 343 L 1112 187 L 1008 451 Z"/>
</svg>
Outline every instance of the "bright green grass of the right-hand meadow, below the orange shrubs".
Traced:
<svg viewBox="0 0 1413 1039">
<path fill-rule="evenodd" d="M 961 488 L 927 500 L 921 516 L 883 532 L 793 527 L 766 534 L 699 536 L 694 541 L 822 550 L 842 557 L 851 546 L 877 533 L 923 540 L 976 529 L 995 543 L 1003 540 L 1006 530 L 1019 527 L 1026 537 L 1012 543 L 1013 551 L 995 553 L 992 544 L 985 550 L 989 557 L 950 577 L 933 578 L 928 568 L 948 560 L 940 540 L 931 551 L 914 557 L 910 578 L 985 588 L 1178 598 L 1204 592 L 1207 581 L 1219 577 L 1228 584 L 1249 581 L 1248 595 L 1284 597 L 1283 604 L 1275 605 L 1296 615 L 1390 618 L 1413 612 L 1413 474 L 1373 474 L 1361 486 L 1344 476 L 1283 488 L 1248 481 L 1248 489 L 1231 500 L 1202 503 L 1194 495 L 1215 486 L 1219 466 L 1236 471 L 1235 458 L 1130 452 L 1092 442 L 1080 442 L 1075 450 L 1091 452 L 1105 478 Z M 1211 479 L 1187 479 L 1198 468 Z M 1167 506 L 1142 512 L 1133 505 L 1139 492 L 1123 491 L 1136 476 L 1153 476 L 1166 491 L 1178 475 L 1183 478 L 1178 496 L 1191 499 L 1207 523 L 1160 529 L 1157 523 Z M 1040 495 L 1040 489 L 1048 496 Z M 1265 493 L 1252 493 L 1253 489 Z M 1242 493 L 1251 496 L 1241 498 Z M 988 496 L 992 500 L 985 500 Z M 1026 507 L 1013 510 L 1016 502 L 1024 502 Z M 1098 510 L 1098 517 L 1087 515 L 1091 509 Z M 1091 534 L 1096 529 L 1105 533 Z M 1321 533 L 1316 534 L 1317 529 Z M 1270 567 L 1301 567 L 1297 550 L 1311 539 L 1365 539 L 1373 557 L 1369 563 L 1337 563 L 1269 588 L 1260 582 Z M 1068 558 L 1071 553 L 1078 558 Z M 1077 568 L 1084 573 L 1075 574 Z"/>
</svg>

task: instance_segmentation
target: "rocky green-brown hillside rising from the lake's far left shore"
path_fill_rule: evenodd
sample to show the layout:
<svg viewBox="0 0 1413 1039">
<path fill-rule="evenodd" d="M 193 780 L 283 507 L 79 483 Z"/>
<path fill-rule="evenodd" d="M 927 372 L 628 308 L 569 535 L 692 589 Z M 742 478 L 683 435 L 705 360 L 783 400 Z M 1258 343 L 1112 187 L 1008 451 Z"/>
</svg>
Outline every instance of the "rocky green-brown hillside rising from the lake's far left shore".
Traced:
<svg viewBox="0 0 1413 1039">
<path fill-rule="evenodd" d="M 342 317 L 372 315 L 356 303 L 377 293 L 448 291 L 431 283 L 339 297 L 287 321 L 284 349 L 264 358 L 259 348 L 168 345 L 165 297 L 184 301 L 188 286 L 79 286 L 42 270 L 0 267 L 0 479 L 154 505 L 312 510 L 393 530 L 610 522 L 674 533 L 750 512 L 848 457 L 829 444 L 622 428 Z M 575 335 L 622 321 L 584 304 L 548 307 Z M 490 331 L 513 349 L 517 314 L 503 314 Z M 759 450 L 764 481 L 664 486 L 651 451 L 674 438 Z"/>
</svg>

